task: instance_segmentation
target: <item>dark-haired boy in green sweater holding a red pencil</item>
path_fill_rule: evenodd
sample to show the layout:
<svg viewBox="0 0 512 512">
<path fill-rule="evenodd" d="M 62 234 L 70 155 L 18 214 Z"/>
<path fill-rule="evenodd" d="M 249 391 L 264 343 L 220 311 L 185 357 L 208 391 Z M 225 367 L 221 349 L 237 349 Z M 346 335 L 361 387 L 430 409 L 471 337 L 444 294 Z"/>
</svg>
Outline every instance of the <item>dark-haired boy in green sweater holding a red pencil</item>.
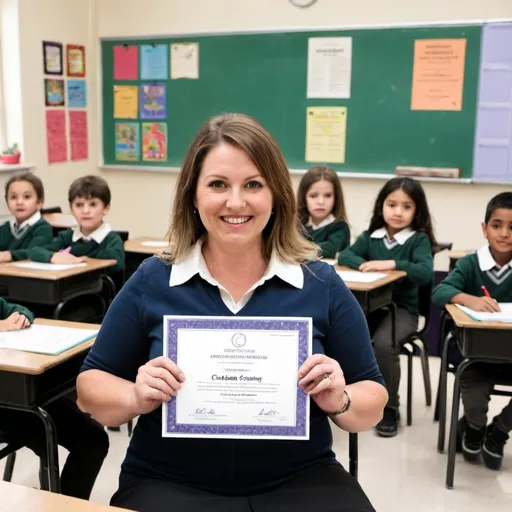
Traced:
<svg viewBox="0 0 512 512">
<path fill-rule="evenodd" d="M 497 312 L 499 302 L 512 302 L 512 192 L 503 192 L 489 201 L 482 231 L 488 243 L 457 262 L 434 289 L 435 304 Z M 494 384 L 500 375 L 511 373 L 510 364 L 482 363 L 469 366 L 461 375 L 462 454 L 468 462 L 478 462 L 481 455 L 488 468 L 501 468 L 503 448 L 512 430 L 512 400 L 488 426 L 487 410 Z"/>
</svg>

